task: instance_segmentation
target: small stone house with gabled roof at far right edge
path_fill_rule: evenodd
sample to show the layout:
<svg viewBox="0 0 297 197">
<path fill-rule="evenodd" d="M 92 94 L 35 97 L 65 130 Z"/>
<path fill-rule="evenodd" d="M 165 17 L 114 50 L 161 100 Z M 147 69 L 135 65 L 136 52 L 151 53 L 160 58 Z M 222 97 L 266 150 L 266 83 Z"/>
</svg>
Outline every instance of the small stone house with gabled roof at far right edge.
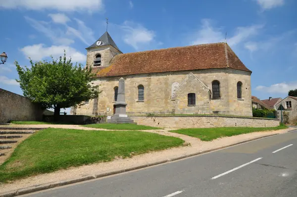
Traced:
<svg viewBox="0 0 297 197">
<path fill-rule="evenodd" d="M 297 123 L 297 97 L 288 96 L 285 99 L 282 99 L 280 102 L 276 104 L 277 109 L 281 104 L 285 108 L 283 110 L 283 116 L 284 114 L 288 114 L 287 123 L 289 124 Z M 281 110 L 277 110 L 277 117 L 278 118 L 281 117 Z"/>
</svg>

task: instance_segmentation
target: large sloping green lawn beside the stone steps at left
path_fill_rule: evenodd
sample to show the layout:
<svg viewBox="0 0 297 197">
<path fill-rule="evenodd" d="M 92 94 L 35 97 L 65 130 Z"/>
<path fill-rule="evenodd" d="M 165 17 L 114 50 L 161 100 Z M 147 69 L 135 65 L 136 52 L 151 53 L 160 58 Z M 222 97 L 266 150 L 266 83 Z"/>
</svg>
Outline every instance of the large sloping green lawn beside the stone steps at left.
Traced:
<svg viewBox="0 0 297 197">
<path fill-rule="evenodd" d="M 110 161 L 183 145 L 179 138 L 141 131 L 41 130 L 22 142 L 1 166 L 0 182 L 70 166 Z"/>
</svg>

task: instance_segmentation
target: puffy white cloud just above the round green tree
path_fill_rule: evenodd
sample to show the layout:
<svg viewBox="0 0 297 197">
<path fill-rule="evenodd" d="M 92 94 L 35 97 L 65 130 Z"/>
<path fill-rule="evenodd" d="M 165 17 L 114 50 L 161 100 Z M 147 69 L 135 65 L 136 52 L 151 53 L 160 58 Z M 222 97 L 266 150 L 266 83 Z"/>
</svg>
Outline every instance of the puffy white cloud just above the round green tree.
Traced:
<svg viewBox="0 0 297 197">
<path fill-rule="evenodd" d="M 74 62 L 85 62 L 86 55 L 77 51 L 74 48 L 68 46 L 51 46 L 45 47 L 43 44 L 26 46 L 20 51 L 24 53 L 26 57 L 30 57 L 34 61 L 40 61 L 52 55 L 54 58 L 63 56 L 64 50 L 66 50 L 66 55 L 72 58 Z"/>
</svg>

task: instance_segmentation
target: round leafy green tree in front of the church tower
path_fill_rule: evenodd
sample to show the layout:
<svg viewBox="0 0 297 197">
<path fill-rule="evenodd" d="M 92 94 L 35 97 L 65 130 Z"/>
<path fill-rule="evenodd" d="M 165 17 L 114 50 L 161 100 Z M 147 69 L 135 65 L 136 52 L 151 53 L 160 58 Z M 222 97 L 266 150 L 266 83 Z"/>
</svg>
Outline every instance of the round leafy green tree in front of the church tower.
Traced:
<svg viewBox="0 0 297 197">
<path fill-rule="evenodd" d="M 57 121 L 61 108 L 82 105 L 88 99 L 99 96 L 98 86 L 94 86 L 92 68 L 83 68 L 82 64 L 72 65 L 71 58 L 66 59 L 66 53 L 52 61 L 37 61 L 30 59 L 31 68 L 21 67 L 15 61 L 19 74 L 20 87 L 25 97 L 33 102 L 41 103 L 44 108 L 54 109 L 54 120 Z"/>
</svg>

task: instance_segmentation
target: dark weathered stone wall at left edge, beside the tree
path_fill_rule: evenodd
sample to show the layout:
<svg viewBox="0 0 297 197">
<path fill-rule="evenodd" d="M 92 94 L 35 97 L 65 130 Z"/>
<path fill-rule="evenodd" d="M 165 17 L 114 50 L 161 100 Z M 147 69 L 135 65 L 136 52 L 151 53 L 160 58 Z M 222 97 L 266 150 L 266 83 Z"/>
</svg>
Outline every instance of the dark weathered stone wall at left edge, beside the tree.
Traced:
<svg viewBox="0 0 297 197">
<path fill-rule="evenodd" d="M 0 124 L 11 120 L 40 121 L 43 111 L 39 104 L 30 99 L 0 88 Z"/>
</svg>

